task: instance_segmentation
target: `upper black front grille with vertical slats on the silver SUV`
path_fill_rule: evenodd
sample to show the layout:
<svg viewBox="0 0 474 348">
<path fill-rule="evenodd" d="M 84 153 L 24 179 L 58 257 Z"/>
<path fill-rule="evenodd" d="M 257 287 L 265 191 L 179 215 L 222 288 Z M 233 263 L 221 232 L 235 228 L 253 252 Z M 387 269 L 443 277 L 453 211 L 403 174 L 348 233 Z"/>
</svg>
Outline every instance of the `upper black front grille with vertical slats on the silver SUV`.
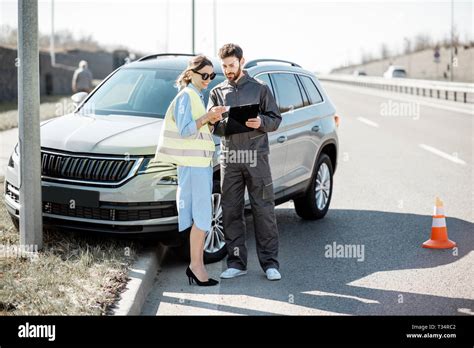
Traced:
<svg viewBox="0 0 474 348">
<path fill-rule="evenodd" d="M 130 174 L 137 159 L 95 158 L 41 152 L 41 175 L 49 178 L 118 183 Z"/>
</svg>

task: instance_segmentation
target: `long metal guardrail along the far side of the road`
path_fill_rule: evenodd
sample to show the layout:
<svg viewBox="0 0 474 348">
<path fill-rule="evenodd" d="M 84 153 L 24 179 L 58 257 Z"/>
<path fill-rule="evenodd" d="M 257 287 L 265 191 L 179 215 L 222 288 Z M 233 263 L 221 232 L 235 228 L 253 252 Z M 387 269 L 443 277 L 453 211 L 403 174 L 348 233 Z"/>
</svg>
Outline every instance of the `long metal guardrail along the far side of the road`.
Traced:
<svg viewBox="0 0 474 348">
<path fill-rule="evenodd" d="M 409 93 L 438 99 L 474 102 L 474 83 L 418 80 L 407 78 L 384 78 L 375 76 L 352 76 L 343 74 L 317 75 L 319 80 L 347 83 L 361 87 L 372 87 L 399 93 Z"/>
</svg>

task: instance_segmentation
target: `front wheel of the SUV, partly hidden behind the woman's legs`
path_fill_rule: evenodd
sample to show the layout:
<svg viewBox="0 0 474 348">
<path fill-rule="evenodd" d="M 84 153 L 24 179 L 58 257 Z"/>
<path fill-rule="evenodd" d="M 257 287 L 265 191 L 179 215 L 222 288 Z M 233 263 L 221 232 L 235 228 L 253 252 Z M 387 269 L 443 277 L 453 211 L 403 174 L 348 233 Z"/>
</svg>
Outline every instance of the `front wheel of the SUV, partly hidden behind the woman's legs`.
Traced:
<svg viewBox="0 0 474 348">
<path fill-rule="evenodd" d="M 219 183 L 215 183 L 212 190 L 212 227 L 211 231 L 206 234 L 204 243 L 204 263 L 214 263 L 221 261 L 227 255 L 227 247 L 224 240 L 224 226 L 222 222 L 222 201 Z M 181 257 L 189 262 L 190 256 L 190 245 L 189 245 L 189 234 L 191 228 L 183 231 L 183 245 L 179 248 Z"/>
</svg>

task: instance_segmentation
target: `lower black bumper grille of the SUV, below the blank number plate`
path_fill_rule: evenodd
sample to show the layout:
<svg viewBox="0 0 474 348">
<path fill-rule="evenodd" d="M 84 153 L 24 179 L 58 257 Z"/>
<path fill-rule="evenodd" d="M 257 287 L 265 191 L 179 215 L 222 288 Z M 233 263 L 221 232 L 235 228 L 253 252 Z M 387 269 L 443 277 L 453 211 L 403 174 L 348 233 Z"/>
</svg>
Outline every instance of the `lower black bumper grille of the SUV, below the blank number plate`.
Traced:
<svg viewBox="0 0 474 348">
<path fill-rule="evenodd" d="M 76 206 L 74 209 L 69 208 L 68 204 L 43 202 L 43 213 L 109 221 L 148 220 L 178 215 L 175 201 L 139 203 L 100 202 L 99 208 Z"/>
</svg>

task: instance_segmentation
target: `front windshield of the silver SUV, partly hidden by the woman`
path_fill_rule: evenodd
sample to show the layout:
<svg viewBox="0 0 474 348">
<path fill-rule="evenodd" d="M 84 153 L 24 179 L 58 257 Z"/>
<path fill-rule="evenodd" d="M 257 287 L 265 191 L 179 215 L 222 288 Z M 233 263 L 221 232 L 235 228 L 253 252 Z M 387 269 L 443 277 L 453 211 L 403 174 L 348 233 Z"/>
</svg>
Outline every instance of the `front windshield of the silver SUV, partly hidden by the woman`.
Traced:
<svg viewBox="0 0 474 348">
<path fill-rule="evenodd" d="M 178 70 L 166 69 L 120 69 L 82 105 L 78 112 L 164 118 L 168 106 L 178 93 L 175 82 L 180 73 Z M 206 103 L 209 91 L 223 80 L 222 74 L 217 75 L 203 91 Z"/>
</svg>

